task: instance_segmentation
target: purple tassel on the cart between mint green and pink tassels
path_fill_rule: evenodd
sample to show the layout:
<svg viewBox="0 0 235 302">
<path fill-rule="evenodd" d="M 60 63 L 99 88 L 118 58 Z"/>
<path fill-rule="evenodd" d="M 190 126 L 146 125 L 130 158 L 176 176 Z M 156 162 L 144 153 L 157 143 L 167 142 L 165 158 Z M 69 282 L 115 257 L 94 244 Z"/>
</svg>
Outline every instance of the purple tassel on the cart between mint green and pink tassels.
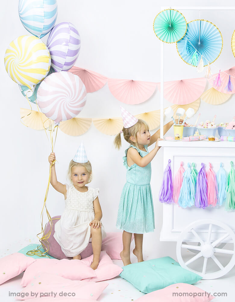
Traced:
<svg viewBox="0 0 235 302">
<path fill-rule="evenodd" d="M 195 206 L 205 209 L 208 206 L 207 199 L 207 179 L 205 174 L 205 164 L 202 162 L 202 168 L 197 175 L 197 187 L 195 193 Z"/>
</svg>

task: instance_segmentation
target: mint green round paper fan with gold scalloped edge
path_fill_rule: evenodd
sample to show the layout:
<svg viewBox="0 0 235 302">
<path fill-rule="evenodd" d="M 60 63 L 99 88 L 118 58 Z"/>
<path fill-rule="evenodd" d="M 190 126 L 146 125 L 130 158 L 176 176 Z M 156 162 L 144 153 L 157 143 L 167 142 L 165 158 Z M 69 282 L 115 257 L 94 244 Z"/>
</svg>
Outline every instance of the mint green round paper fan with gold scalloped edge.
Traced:
<svg viewBox="0 0 235 302">
<path fill-rule="evenodd" d="M 185 35 L 187 22 L 179 11 L 165 9 L 154 19 L 153 30 L 161 41 L 174 43 L 182 39 Z"/>
</svg>

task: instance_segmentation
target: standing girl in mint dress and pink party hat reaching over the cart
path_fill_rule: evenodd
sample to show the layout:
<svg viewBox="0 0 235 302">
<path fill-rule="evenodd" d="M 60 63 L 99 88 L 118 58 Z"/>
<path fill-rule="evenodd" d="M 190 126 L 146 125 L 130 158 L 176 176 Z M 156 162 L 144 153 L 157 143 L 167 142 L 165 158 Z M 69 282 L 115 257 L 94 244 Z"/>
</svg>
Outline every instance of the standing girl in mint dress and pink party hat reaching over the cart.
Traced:
<svg viewBox="0 0 235 302">
<path fill-rule="evenodd" d="M 124 166 L 127 168 L 127 182 L 121 193 L 121 199 L 117 214 L 116 227 L 123 230 L 123 250 L 120 253 L 123 264 L 130 264 L 130 243 L 132 233 L 135 238 L 133 254 L 138 262 L 143 261 L 143 234 L 153 232 L 154 210 L 151 180 L 151 161 L 159 147 L 160 130 L 150 135 L 149 127 L 144 120 L 138 120 L 128 111 L 121 107 L 124 128 L 117 134 L 114 140 L 116 148 L 121 146 L 121 133 L 130 144 L 123 157 Z M 164 126 L 166 133 L 173 122 Z M 152 151 L 148 146 L 156 142 Z"/>
</svg>

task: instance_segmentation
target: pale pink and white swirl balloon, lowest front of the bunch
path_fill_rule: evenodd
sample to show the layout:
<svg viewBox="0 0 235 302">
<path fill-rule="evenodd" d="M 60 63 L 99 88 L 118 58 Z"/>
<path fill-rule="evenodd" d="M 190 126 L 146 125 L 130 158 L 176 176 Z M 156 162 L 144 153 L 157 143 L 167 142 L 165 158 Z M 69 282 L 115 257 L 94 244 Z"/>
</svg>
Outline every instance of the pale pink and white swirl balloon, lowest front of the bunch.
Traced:
<svg viewBox="0 0 235 302">
<path fill-rule="evenodd" d="M 37 103 L 41 111 L 59 125 L 76 117 L 86 104 L 86 88 L 79 76 L 68 71 L 52 73 L 40 84 Z"/>
</svg>

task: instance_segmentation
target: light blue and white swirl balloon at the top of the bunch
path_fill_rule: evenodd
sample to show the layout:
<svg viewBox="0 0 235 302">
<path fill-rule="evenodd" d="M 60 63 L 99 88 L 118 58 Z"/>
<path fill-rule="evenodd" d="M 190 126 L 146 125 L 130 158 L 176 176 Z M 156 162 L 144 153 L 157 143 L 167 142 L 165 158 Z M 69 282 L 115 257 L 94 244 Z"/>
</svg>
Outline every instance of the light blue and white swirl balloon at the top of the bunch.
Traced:
<svg viewBox="0 0 235 302">
<path fill-rule="evenodd" d="M 55 25 L 56 0 L 19 0 L 18 12 L 23 26 L 36 37 L 42 38 Z"/>
</svg>

